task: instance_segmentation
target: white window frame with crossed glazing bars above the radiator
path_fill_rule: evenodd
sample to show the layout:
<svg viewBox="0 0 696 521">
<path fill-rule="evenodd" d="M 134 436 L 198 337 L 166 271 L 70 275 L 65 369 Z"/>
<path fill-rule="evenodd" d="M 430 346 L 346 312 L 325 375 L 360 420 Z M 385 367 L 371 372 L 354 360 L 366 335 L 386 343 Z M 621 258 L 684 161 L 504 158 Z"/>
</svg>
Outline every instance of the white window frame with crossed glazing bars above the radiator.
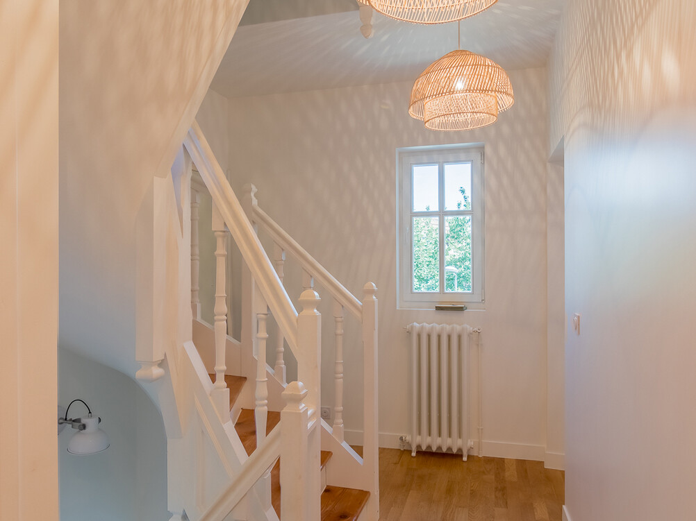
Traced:
<svg viewBox="0 0 696 521">
<path fill-rule="evenodd" d="M 474 304 L 482 308 L 484 302 L 484 147 L 482 143 L 453 144 L 439 147 L 409 147 L 397 149 L 397 303 L 404 309 L 433 309 L 437 304 Z M 460 215 L 461 210 L 444 210 L 443 164 L 471 162 L 471 292 L 445 292 L 443 283 L 439 292 L 413 291 L 413 251 L 411 249 L 411 219 L 425 215 L 412 212 L 411 190 L 414 165 L 438 164 L 440 179 L 440 210 L 432 213 L 440 220 L 440 270 L 444 270 L 443 220 L 450 212 Z"/>
</svg>

